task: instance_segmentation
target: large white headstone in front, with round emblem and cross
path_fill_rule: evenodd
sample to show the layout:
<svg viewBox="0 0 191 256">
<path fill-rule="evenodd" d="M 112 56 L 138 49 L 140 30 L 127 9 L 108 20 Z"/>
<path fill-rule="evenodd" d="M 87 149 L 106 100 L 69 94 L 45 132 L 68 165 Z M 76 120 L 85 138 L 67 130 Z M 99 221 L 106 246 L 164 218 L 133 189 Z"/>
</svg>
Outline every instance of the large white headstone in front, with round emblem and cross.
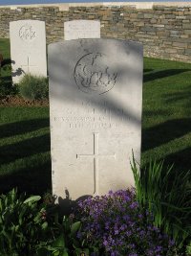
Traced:
<svg viewBox="0 0 191 256">
<path fill-rule="evenodd" d="M 49 46 L 53 195 L 103 195 L 134 185 L 140 160 L 142 47 L 115 39 Z"/>
</svg>

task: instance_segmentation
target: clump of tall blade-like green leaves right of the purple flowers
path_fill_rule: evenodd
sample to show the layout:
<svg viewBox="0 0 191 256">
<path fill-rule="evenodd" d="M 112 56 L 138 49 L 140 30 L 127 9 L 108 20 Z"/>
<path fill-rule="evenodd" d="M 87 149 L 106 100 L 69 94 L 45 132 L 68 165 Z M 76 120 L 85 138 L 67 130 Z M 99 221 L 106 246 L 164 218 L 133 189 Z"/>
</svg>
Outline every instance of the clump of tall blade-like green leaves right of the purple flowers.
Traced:
<svg viewBox="0 0 191 256">
<path fill-rule="evenodd" d="M 175 174 L 173 166 L 165 170 L 161 161 L 150 162 L 139 172 L 135 159 L 132 170 L 139 204 L 153 212 L 155 225 L 184 250 L 191 241 L 190 171 Z"/>
</svg>

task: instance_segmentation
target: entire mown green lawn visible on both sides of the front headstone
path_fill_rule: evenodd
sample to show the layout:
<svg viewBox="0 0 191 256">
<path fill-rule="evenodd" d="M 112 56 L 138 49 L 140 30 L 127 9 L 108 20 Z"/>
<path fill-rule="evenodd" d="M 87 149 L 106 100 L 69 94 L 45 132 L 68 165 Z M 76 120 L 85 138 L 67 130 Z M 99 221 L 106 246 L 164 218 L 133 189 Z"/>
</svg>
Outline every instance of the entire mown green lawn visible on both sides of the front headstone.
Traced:
<svg viewBox="0 0 191 256">
<path fill-rule="evenodd" d="M 9 40 L 0 52 L 10 58 Z M 8 61 L 9 62 L 9 61 Z M 2 81 L 10 82 L 10 71 Z M 1 89 L 1 88 L 0 88 Z M 191 167 L 191 64 L 144 58 L 141 162 L 165 159 L 177 171 Z M 51 190 L 49 107 L 0 107 L 0 191 Z"/>
</svg>

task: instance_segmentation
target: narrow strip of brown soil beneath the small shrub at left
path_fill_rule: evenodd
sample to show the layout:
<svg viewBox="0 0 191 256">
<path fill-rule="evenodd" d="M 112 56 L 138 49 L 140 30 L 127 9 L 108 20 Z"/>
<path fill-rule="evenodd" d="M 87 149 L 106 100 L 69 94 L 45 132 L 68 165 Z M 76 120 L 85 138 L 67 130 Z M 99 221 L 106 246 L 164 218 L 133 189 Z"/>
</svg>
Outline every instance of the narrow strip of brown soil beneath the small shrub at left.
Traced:
<svg viewBox="0 0 191 256">
<path fill-rule="evenodd" d="M 19 96 L 6 96 L 0 98 L 0 106 L 49 106 L 49 100 L 28 101 Z"/>
</svg>

